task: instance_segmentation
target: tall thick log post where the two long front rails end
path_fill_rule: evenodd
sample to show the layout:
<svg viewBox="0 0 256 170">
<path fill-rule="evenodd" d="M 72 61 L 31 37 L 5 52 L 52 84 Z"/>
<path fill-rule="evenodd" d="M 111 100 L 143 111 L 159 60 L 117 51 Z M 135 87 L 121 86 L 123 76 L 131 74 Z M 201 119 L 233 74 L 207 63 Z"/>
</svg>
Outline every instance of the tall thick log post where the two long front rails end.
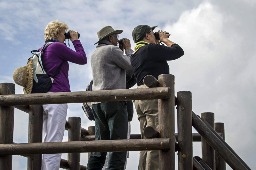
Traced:
<svg viewBox="0 0 256 170">
<path fill-rule="evenodd" d="M 159 137 L 170 138 L 170 150 L 159 151 L 159 169 L 175 170 L 175 136 L 174 136 L 174 75 L 162 74 L 158 77 L 160 87 L 170 87 L 170 99 L 159 100 Z"/>
</svg>

